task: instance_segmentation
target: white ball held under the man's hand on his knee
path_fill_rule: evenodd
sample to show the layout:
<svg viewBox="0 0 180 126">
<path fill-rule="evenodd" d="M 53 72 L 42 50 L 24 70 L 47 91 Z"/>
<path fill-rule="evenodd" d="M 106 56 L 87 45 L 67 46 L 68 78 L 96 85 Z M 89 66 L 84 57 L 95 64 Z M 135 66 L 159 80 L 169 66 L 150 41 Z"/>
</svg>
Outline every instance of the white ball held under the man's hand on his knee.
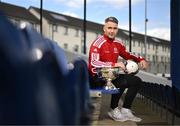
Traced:
<svg viewBox="0 0 180 126">
<path fill-rule="evenodd" d="M 132 60 L 127 60 L 126 72 L 128 74 L 137 73 L 139 70 L 138 64 Z"/>
</svg>

